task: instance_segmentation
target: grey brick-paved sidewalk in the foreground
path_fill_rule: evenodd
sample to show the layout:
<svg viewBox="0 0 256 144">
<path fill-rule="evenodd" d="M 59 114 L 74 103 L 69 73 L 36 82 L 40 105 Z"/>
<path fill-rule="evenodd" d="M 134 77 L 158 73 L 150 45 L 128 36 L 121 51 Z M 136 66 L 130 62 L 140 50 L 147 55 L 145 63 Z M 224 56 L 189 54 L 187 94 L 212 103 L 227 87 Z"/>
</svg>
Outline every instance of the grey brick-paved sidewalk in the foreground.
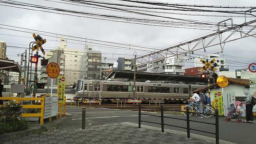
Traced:
<svg viewBox="0 0 256 144">
<path fill-rule="evenodd" d="M 88 144 L 165 144 L 189 143 L 210 144 L 212 142 L 198 139 L 186 139 L 186 136 L 174 133 L 161 133 L 149 129 L 138 129 L 124 124 L 109 124 L 57 132 L 46 132 L 23 138 L 4 141 L 4 144 L 17 143 L 88 143 Z"/>
</svg>

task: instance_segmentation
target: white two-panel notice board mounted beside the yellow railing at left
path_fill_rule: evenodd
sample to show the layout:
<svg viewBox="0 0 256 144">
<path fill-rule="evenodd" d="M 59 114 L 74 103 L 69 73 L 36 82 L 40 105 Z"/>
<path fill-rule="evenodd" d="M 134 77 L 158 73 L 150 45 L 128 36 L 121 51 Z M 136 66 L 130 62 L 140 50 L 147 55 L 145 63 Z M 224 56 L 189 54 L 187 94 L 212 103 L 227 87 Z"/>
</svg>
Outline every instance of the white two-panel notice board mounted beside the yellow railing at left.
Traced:
<svg viewBox="0 0 256 144">
<path fill-rule="evenodd" d="M 58 97 L 45 97 L 44 118 L 58 115 Z"/>
</svg>

